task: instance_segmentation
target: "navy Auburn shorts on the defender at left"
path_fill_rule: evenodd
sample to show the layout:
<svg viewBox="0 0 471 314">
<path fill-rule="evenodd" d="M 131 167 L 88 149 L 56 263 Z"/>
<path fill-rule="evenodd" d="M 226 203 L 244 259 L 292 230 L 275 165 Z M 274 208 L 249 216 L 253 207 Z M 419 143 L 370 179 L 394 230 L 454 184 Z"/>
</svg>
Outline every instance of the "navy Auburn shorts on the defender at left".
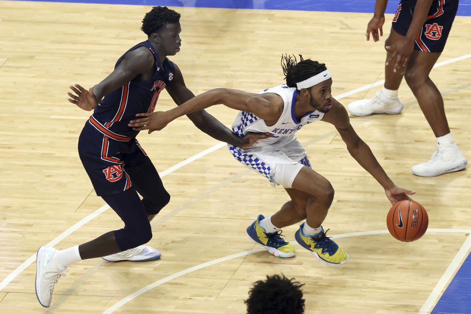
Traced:
<svg viewBox="0 0 471 314">
<path fill-rule="evenodd" d="M 161 184 L 154 165 L 135 138 L 105 135 L 97 130 L 93 123 L 96 123 L 96 120 L 91 118 L 80 133 L 78 155 L 97 195 L 116 194 L 134 187 L 135 181 L 139 183 L 139 180 L 143 180 L 142 175 L 132 175 L 131 169 L 136 168 L 143 173 L 143 170 L 146 170 L 143 168 L 147 167 L 147 173 L 153 174 L 146 178 L 149 182 L 137 185 L 153 185 L 157 182 Z"/>
</svg>

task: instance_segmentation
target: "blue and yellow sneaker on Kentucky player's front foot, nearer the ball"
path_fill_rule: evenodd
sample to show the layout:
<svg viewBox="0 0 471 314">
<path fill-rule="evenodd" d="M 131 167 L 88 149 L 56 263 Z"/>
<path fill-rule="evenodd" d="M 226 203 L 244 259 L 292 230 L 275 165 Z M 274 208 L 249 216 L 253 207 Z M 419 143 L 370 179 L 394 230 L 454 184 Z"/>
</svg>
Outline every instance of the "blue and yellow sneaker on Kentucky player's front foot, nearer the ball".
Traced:
<svg viewBox="0 0 471 314">
<path fill-rule="evenodd" d="M 340 265 L 348 260 L 348 254 L 325 235 L 327 232 L 324 232 L 324 229 L 322 229 L 320 237 L 314 238 L 314 236 L 304 235 L 303 227 L 304 222 L 294 237 L 302 247 L 313 252 L 319 261 L 327 265 Z"/>
</svg>

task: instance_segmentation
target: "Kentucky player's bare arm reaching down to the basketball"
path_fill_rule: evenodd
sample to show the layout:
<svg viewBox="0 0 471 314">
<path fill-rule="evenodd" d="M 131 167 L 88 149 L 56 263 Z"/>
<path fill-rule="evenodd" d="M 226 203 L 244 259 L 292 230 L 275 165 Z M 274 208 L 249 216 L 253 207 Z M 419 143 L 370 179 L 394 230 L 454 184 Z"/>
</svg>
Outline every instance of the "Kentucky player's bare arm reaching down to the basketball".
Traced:
<svg viewBox="0 0 471 314">
<path fill-rule="evenodd" d="M 392 182 L 378 160 L 376 160 L 376 157 L 374 157 L 371 149 L 353 129 L 347 110 L 338 101 L 332 99 L 332 108 L 324 115 L 322 121 L 335 126 L 345 142 L 350 155 L 383 186 L 392 204 L 400 200 L 409 199 L 406 194 L 415 193 L 414 191 L 397 187 Z"/>
</svg>

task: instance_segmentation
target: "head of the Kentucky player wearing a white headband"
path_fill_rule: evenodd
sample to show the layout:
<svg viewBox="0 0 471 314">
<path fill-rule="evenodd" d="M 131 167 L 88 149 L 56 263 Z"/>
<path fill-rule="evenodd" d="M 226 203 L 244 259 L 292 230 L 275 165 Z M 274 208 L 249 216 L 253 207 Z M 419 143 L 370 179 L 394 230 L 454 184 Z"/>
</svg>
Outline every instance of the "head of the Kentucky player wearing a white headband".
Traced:
<svg viewBox="0 0 471 314">
<path fill-rule="evenodd" d="M 332 75 L 324 63 L 304 60 L 301 54 L 299 58 L 297 62 L 294 55 L 281 57 L 286 84 L 297 88 L 300 101 L 308 102 L 313 110 L 327 113 L 332 107 Z"/>
</svg>

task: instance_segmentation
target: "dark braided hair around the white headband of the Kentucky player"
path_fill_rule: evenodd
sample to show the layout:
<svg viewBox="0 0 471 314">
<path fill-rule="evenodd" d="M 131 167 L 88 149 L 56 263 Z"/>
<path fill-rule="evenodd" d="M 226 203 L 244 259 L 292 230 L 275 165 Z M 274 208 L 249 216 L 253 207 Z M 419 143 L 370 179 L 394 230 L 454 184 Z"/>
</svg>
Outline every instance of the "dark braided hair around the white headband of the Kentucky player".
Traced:
<svg viewBox="0 0 471 314">
<path fill-rule="evenodd" d="M 319 63 L 311 59 L 304 60 L 301 54 L 299 55 L 299 62 L 297 62 L 294 55 L 286 53 L 281 55 L 281 67 L 288 87 L 296 87 L 296 83 L 327 70 L 325 63 Z"/>
</svg>

